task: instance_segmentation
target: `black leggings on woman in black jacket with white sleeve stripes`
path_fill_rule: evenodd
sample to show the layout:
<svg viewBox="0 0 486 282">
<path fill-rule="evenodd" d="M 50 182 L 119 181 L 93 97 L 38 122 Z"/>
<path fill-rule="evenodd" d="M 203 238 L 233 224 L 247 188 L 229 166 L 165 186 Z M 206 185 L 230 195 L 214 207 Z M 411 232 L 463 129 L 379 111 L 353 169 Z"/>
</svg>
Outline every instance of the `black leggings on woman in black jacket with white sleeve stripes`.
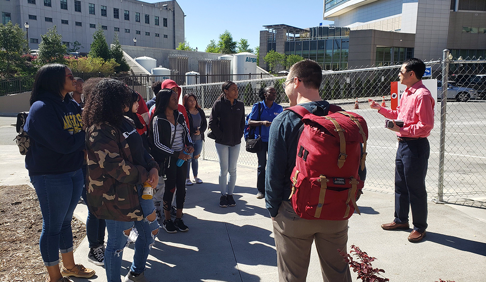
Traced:
<svg viewBox="0 0 486 282">
<path fill-rule="evenodd" d="M 172 198 L 175 194 L 175 204 L 177 209 L 184 208 L 184 201 L 186 200 L 186 174 L 187 163 L 184 162 L 182 166 L 177 166 L 175 163 L 178 158 L 171 157 L 169 166 L 165 169 L 167 180 L 165 181 L 164 192 L 164 210 L 170 211 Z"/>
</svg>

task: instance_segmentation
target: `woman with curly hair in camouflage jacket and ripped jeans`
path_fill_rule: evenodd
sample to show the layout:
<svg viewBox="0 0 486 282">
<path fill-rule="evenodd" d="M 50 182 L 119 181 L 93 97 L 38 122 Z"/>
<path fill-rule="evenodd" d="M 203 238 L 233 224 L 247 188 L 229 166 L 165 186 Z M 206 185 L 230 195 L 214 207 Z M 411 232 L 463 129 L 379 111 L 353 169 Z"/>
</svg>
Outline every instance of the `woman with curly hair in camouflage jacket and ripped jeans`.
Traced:
<svg viewBox="0 0 486 282">
<path fill-rule="evenodd" d="M 103 79 L 87 97 L 83 111 L 87 148 L 87 205 L 106 222 L 104 266 L 109 282 L 120 282 L 123 248 L 136 228 L 130 271 L 125 282 L 145 281 L 145 263 L 158 233 L 154 203 L 142 199 L 142 183 L 158 182 L 158 165 L 143 148 L 132 121 L 124 116 L 132 92 L 123 83 Z"/>
</svg>

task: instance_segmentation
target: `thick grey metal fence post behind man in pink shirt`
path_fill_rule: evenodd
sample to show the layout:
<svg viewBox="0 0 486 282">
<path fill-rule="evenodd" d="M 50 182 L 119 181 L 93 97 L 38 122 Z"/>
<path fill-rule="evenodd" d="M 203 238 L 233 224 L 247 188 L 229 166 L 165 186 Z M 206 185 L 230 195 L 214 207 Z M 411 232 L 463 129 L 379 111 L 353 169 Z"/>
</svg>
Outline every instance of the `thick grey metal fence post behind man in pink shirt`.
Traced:
<svg viewBox="0 0 486 282">
<path fill-rule="evenodd" d="M 451 58 L 449 49 L 445 49 L 442 57 L 442 97 L 440 100 L 440 145 L 439 145 L 439 179 L 437 183 L 437 201 L 442 202 L 444 197 L 444 154 L 446 145 L 446 106 L 447 86 L 449 81 L 449 65 Z"/>
</svg>

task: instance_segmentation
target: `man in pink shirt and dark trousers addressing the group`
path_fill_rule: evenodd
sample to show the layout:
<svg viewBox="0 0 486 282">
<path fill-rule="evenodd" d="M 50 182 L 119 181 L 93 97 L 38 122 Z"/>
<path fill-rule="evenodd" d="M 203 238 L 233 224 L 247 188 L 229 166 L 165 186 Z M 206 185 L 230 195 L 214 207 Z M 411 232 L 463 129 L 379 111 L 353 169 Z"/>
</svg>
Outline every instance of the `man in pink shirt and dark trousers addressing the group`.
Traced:
<svg viewBox="0 0 486 282">
<path fill-rule="evenodd" d="M 417 243 L 426 236 L 427 191 L 425 175 L 430 154 L 429 141 L 434 127 L 434 98 L 423 85 L 425 64 L 412 58 L 403 63 L 399 73 L 400 83 L 407 86 L 397 110 L 381 107 L 368 99 L 369 106 L 389 119 L 403 120 L 403 127 L 393 121 L 390 130 L 397 133 L 399 146 L 395 159 L 395 219 L 382 224 L 384 230 L 409 229 L 408 213 L 412 208 L 414 230 L 408 241 Z"/>
</svg>

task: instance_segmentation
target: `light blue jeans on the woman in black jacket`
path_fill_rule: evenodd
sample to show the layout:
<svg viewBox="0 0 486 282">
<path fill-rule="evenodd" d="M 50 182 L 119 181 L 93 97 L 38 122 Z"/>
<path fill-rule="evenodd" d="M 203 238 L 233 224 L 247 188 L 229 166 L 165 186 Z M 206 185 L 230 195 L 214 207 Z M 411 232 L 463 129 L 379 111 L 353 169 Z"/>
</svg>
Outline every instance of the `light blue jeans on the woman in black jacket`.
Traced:
<svg viewBox="0 0 486 282">
<path fill-rule="evenodd" d="M 219 188 L 222 195 L 233 195 L 236 184 L 236 162 L 238 162 L 238 156 L 240 155 L 240 145 L 227 146 L 216 143 L 216 151 L 219 158 Z M 229 172 L 229 180 L 227 175 Z M 226 185 L 227 183 L 227 185 Z"/>
</svg>

